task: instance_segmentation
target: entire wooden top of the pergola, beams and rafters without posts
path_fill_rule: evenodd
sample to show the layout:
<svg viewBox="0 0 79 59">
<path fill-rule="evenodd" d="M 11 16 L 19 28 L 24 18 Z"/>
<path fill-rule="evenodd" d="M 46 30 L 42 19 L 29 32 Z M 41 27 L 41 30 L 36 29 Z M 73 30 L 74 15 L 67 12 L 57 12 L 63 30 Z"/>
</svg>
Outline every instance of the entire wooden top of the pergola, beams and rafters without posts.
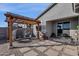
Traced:
<svg viewBox="0 0 79 59">
<path fill-rule="evenodd" d="M 28 17 L 21 16 L 21 15 L 18 15 L 18 14 L 14 14 L 14 13 L 10 13 L 10 12 L 7 12 L 4 15 L 7 17 L 6 19 L 8 19 L 8 17 L 13 18 L 12 20 L 13 20 L 14 23 L 19 23 L 19 22 L 21 22 L 21 23 L 25 22 L 25 23 L 29 23 L 29 24 L 40 23 L 39 20 L 34 20 L 32 18 L 28 18 Z M 8 21 L 8 20 L 6 20 L 6 21 Z"/>
</svg>

